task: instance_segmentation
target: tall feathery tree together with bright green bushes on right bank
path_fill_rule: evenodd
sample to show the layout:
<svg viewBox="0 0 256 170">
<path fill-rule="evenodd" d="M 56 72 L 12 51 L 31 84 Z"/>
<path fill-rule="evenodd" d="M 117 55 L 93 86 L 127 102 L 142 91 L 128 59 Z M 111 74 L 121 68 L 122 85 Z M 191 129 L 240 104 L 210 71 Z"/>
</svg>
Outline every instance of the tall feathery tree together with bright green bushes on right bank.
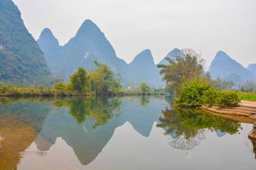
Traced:
<svg viewBox="0 0 256 170">
<path fill-rule="evenodd" d="M 194 50 L 182 51 L 185 57 L 166 58 L 168 64 L 159 64 L 160 74 L 164 75 L 166 88 L 175 97 L 175 103 L 182 107 L 236 107 L 240 102 L 239 94 L 231 90 L 228 81 L 211 80 L 208 72 L 204 72 L 204 60 Z"/>
</svg>

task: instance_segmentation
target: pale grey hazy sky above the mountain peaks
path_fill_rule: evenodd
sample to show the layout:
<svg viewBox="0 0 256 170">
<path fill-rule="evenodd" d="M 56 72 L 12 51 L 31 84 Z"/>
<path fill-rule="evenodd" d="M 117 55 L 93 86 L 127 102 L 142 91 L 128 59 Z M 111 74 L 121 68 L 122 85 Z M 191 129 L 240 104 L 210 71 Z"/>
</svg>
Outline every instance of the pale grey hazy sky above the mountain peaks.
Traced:
<svg viewBox="0 0 256 170">
<path fill-rule="evenodd" d="M 218 50 L 245 67 L 256 63 L 256 0 L 14 0 L 35 39 L 51 28 L 64 45 L 83 20 L 95 22 L 119 58 L 150 49 L 192 48 L 211 62 Z"/>
</svg>

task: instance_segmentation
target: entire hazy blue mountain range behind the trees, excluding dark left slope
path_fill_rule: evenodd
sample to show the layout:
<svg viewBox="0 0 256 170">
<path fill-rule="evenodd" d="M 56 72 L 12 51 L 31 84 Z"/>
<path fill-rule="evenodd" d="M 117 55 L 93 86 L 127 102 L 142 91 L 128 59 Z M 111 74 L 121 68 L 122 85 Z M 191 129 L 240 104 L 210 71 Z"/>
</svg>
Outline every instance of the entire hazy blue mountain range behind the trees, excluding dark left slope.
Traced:
<svg viewBox="0 0 256 170">
<path fill-rule="evenodd" d="M 132 59 L 131 63 L 126 63 L 120 59 L 107 40 L 101 29 L 92 20 L 85 20 L 74 37 L 65 46 L 59 46 L 59 42 L 49 28 L 45 28 L 41 33 L 38 44 L 42 48 L 47 61 L 47 65 L 56 75 L 62 76 L 65 81 L 79 67 L 88 70 L 96 68 L 94 61 L 104 63 L 114 72 L 121 75 L 121 83 L 125 87 L 137 87 L 141 82 L 147 82 L 150 86 L 163 87 L 164 81 L 159 75 L 159 68 L 156 67 L 154 58 L 150 50 L 143 50 Z M 185 57 L 182 50 L 174 48 L 166 57 L 176 59 L 177 56 Z M 159 63 L 168 64 L 164 58 Z M 253 65 L 249 67 L 253 69 Z M 256 77 L 244 68 L 240 63 L 231 59 L 223 51 L 218 51 L 210 64 L 209 72 L 213 79 L 218 77 L 233 81 L 240 85 L 245 81 L 255 81 Z"/>
</svg>

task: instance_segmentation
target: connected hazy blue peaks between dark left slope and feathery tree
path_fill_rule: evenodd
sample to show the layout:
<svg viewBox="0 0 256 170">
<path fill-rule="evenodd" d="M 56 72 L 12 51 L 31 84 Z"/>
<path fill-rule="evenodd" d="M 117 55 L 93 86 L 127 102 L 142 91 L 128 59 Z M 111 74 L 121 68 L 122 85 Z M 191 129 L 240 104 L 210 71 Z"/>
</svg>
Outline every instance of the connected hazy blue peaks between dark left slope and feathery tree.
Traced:
<svg viewBox="0 0 256 170">
<path fill-rule="evenodd" d="M 50 29 L 45 28 L 38 44 L 46 55 L 47 64 L 52 72 L 68 81 L 77 68 L 95 68 L 94 61 L 104 63 L 121 75 L 124 86 L 137 86 L 147 82 L 152 86 L 162 85 L 150 50 L 138 54 L 132 63 L 127 64 L 115 54 L 110 41 L 92 20 L 85 20 L 78 33 L 65 46 L 59 46 Z"/>
</svg>

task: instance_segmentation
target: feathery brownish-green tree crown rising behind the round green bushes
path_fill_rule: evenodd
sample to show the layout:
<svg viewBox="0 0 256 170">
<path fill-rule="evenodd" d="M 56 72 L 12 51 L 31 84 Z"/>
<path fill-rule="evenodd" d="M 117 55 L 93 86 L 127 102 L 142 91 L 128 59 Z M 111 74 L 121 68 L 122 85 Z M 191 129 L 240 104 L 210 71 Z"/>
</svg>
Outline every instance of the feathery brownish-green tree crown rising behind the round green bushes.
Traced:
<svg viewBox="0 0 256 170">
<path fill-rule="evenodd" d="M 194 50 L 182 50 L 185 58 L 177 56 L 176 59 L 166 57 L 169 64 L 159 64 L 158 68 L 162 68 L 160 74 L 164 75 L 163 80 L 166 81 L 167 88 L 177 93 L 182 86 L 184 80 L 191 80 L 195 77 L 203 77 L 203 59 L 196 54 Z"/>
</svg>

